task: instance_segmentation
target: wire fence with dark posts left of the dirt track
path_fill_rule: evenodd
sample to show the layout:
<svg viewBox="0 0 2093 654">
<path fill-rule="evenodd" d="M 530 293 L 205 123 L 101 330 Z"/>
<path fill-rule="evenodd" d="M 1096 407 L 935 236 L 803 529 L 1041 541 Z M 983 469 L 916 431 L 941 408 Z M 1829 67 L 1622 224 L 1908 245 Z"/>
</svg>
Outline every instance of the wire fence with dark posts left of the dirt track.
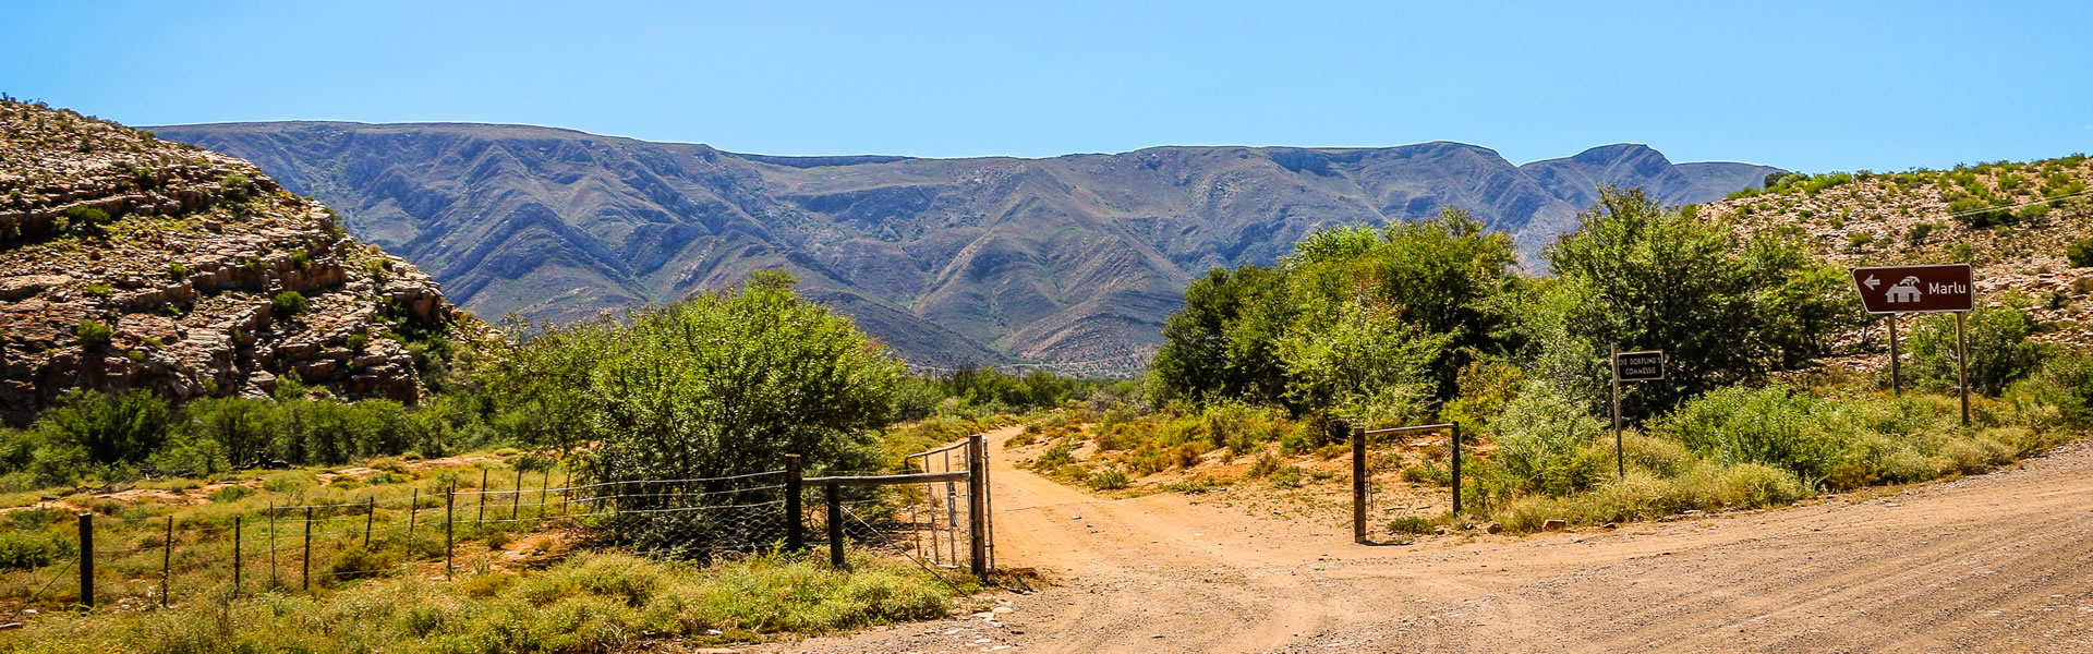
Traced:
<svg viewBox="0 0 2093 654">
<path fill-rule="evenodd" d="M 942 467 L 952 470 L 965 463 Z M 871 474 L 831 472 L 827 480 L 852 476 Z M 0 570 L 6 570 L 0 597 L 142 608 L 329 589 L 373 576 L 452 579 L 536 568 L 576 545 L 712 560 L 777 551 L 797 539 L 802 547 L 848 543 L 925 566 L 969 562 L 957 545 L 971 539 L 967 482 L 823 484 L 802 482 L 797 470 L 563 486 L 553 484 L 553 472 L 479 478 L 471 488 L 251 509 L 207 505 L 176 516 L 27 509 L 33 514 L 0 520 Z M 797 524 L 789 509 L 800 509 Z M 10 558 L 8 543 L 40 543 L 44 555 Z"/>
</svg>

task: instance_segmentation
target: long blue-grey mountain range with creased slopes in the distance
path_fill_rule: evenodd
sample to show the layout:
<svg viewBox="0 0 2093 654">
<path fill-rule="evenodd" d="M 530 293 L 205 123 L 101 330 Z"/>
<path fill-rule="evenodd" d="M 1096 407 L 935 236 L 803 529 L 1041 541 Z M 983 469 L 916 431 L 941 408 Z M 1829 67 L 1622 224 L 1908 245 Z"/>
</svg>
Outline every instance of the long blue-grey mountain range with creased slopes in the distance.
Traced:
<svg viewBox="0 0 2093 654">
<path fill-rule="evenodd" d="M 1595 184 L 1718 199 L 1773 168 L 1639 145 L 1513 166 L 1459 143 L 1155 147 L 1051 159 L 766 157 L 481 124 L 218 124 L 247 157 L 479 314 L 571 321 L 787 268 L 904 358 L 1141 369 L 1185 283 L 1340 222 L 1444 205 L 1534 254 Z"/>
</svg>

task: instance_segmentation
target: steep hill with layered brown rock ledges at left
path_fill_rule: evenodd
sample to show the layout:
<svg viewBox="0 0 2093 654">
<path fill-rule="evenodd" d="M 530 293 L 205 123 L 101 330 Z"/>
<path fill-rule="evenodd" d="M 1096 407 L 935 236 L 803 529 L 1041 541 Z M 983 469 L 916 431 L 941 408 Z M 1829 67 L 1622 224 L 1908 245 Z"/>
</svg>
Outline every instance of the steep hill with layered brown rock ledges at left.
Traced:
<svg viewBox="0 0 2093 654">
<path fill-rule="evenodd" d="M 0 419 L 69 390 L 414 402 L 458 310 L 247 161 L 0 101 Z"/>
</svg>

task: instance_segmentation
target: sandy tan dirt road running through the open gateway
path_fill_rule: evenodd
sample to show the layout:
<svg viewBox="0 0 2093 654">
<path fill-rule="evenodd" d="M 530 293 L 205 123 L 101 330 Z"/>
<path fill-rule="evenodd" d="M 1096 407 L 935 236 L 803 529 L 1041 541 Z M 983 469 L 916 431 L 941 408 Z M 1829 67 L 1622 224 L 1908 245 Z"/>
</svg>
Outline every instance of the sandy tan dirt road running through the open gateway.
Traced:
<svg viewBox="0 0 2093 654">
<path fill-rule="evenodd" d="M 1873 499 L 1402 547 L 1354 545 L 1327 516 L 1107 501 L 994 465 L 998 564 L 1051 587 L 777 650 L 2093 652 L 2085 442 Z"/>
</svg>

